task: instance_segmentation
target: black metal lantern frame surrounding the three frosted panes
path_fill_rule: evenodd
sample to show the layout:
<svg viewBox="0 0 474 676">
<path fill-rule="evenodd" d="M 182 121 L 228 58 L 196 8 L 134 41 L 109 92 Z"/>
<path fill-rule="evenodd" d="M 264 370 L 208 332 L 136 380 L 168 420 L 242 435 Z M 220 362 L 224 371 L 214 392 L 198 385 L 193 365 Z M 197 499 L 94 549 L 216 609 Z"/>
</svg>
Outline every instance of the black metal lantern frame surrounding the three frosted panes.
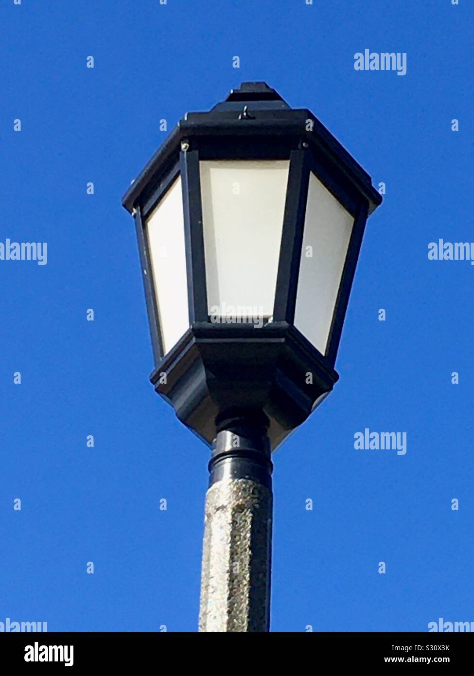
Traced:
<svg viewBox="0 0 474 676">
<path fill-rule="evenodd" d="M 275 306 L 272 320 L 258 331 L 252 323 L 210 320 L 202 160 L 289 160 Z M 312 172 L 354 218 L 325 354 L 293 324 Z M 189 329 L 164 354 L 145 222 L 179 175 Z M 335 358 L 366 219 L 379 203 L 369 174 L 323 124 L 309 110 L 291 109 L 264 82 L 242 84 L 210 112 L 187 114 L 133 182 L 123 205 L 135 216 L 156 366 L 151 383 L 206 443 L 222 419 L 264 412 L 275 449 L 331 391 L 339 378 Z"/>
</svg>

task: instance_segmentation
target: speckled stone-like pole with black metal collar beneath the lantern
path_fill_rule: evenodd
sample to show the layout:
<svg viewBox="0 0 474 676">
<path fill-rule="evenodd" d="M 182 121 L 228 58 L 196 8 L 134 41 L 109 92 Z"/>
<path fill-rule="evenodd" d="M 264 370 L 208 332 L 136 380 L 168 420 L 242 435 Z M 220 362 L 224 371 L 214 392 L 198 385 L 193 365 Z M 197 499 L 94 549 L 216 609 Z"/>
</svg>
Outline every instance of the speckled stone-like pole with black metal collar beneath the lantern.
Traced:
<svg viewBox="0 0 474 676">
<path fill-rule="evenodd" d="M 210 462 L 199 631 L 268 631 L 272 541 L 268 441 L 258 427 L 226 423 Z"/>
</svg>

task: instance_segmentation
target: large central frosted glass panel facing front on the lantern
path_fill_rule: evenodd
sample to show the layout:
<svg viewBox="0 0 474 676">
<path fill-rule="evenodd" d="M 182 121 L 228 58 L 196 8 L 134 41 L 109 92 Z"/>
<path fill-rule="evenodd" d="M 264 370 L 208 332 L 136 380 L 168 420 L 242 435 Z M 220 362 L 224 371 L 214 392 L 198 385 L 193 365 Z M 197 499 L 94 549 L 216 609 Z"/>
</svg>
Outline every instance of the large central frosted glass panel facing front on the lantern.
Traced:
<svg viewBox="0 0 474 676">
<path fill-rule="evenodd" d="M 200 162 L 211 316 L 272 316 L 288 169 L 288 160 Z"/>
</svg>

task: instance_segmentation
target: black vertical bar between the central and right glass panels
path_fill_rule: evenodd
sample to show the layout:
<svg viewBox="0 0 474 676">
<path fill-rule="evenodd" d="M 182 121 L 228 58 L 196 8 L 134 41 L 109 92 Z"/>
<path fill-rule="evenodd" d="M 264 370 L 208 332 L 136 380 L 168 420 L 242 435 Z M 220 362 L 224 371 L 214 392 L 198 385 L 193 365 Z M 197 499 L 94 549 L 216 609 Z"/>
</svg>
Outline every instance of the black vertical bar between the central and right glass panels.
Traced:
<svg viewBox="0 0 474 676">
<path fill-rule="evenodd" d="M 287 197 L 278 263 L 274 322 L 293 324 L 300 273 L 306 200 L 310 180 L 310 156 L 306 149 L 292 150 L 289 158 Z"/>
</svg>

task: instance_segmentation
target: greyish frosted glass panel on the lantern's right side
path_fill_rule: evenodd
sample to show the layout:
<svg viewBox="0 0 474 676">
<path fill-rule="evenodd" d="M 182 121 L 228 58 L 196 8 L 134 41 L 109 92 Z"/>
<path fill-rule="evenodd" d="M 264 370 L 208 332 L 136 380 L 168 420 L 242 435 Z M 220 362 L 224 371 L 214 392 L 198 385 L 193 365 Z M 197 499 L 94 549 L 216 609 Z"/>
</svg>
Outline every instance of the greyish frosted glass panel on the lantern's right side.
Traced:
<svg viewBox="0 0 474 676">
<path fill-rule="evenodd" d="M 308 202 L 295 327 L 325 354 L 354 217 L 314 174 Z"/>
</svg>

